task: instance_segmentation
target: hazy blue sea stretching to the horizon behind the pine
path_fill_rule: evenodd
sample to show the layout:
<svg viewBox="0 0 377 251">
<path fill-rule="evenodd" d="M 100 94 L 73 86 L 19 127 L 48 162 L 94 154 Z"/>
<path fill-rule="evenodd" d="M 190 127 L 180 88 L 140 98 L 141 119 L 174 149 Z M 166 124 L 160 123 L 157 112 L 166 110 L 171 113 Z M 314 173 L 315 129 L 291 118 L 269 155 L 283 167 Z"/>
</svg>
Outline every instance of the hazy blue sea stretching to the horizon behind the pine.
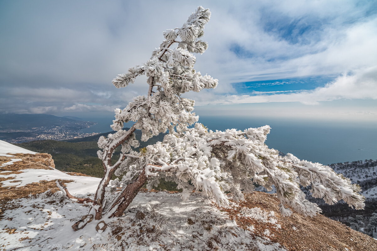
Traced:
<svg viewBox="0 0 377 251">
<path fill-rule="evenodd" d="M 82 132 L 109 132 L 112 116 L 85 118 L 96 125 Z M 266 144 L 285 154 L 322 164 L 377 159 L 377 122 L 272 119 L 240 116 L 200 116 L 211 130 L 269 125 Z M 130 127 L 132 123 L 125 126 Z"/>
</svg>

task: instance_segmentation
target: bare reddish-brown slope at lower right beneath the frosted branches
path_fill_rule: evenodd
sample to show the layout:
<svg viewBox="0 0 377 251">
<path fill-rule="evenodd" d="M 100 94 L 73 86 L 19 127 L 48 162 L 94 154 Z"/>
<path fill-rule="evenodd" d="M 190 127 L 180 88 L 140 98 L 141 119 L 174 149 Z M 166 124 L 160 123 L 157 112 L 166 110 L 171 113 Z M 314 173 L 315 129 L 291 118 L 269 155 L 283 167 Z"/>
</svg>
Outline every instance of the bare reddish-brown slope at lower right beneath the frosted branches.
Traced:
<svg viewBox="0 0 377 251">
<path fill-rule="evenodd" d="M 239 215 L 241 207 L 222 208 L 230 219 L 234 219 L 242 228 L 253 225 L 255 236 L 265 236 L 266 229 L 273 235 L 266 236 L 273 242 L 278 242 L 288 250 L 294 251 L 344 251 L 345 248 L 353 251 L 377 250 L 377 241 L 373 238 L 352 230 L 346 225 L 326 218 L 323 215 L 305 217 L 294 212 L 290 217 L 282 217 L 279 213 L 279 199 L 274 195 L 262 192 L 253 192 L 245 195 L 245 201 L 239 203 L 241 207 L 259 207 L 265 211 L 274 211 L 278 220 L 275 225 L 264 223 L 253 218 Z M 296 230 L 293 230 L 296 227 Z M 352 240 L 351 240 L 352 239 Z"/>
</svg>

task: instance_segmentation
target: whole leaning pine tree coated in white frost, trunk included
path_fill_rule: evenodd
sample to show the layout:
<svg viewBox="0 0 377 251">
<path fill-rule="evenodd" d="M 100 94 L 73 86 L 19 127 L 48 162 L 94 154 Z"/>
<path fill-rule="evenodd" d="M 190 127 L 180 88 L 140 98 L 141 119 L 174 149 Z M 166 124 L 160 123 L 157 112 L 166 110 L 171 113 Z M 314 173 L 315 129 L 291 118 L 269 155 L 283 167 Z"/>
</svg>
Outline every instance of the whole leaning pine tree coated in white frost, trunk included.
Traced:
<svg viewBox="0 0 377 251">
<path fill-rule="evenodd" d="M 165 40 L 148 61 L 113 79 L 115 87 L 121 88 L 146 75 L 147 94 L 134 97 L 123 110 L 116 109 L 111 128 L 117 132 L 98 140 L 102 149 L 98 157 L 105 174 L 94 199 L 75 198 L 58 183 L 69 198 L 90 205 L 89 214 L 73 226 L 75 230 L 92 218 L 121 216 L 145 183 L 151 188 L 161 178 L 178 184 L 177 188 L 183 190 L 182 199 L 196 189 L 223 206 L 230 198 L 243 200 L 243 193 L 252 192 L 255 185 L 268 190 L 275 186 L 280 212 L 285 216 L 291 214 L 288 207 L 307 216 L 320 212 L 316 204 L 305 199 L 300 185 L 311 186 L 312 195 L 328 204 L 343 199 L 351 207 L 364 207 L 360 188 L 330 167 L 299 160 L 291 154 L 280 157 L 278 151 L 268 148 L 265 140 L 269 126 L 211 131 L 196 123 L 195 101 L 182 94 L 216 88 L 218 84 L 217 79 L 193 68 L 194 53 L 202 54 L 208 47 L 201 37 L 210 15 L 209 9 L 199 6 L 181 28 L 163 33 Z M 135 123 L 124 131 L 123 124 L 129 121 Z M 161 132 L 169 134 L 162 142 L 136 152 L 136 129 L 141 130 L 143 141 Z M 113 152 L 118 147 L 121 154 L 115 161 Z M 120 178 L 110 180 L 113 175 Z M 118 192 L 109 196 L 116 188 Z M 226 196 L 226 192 L 231 196 Z"/>
</svg>

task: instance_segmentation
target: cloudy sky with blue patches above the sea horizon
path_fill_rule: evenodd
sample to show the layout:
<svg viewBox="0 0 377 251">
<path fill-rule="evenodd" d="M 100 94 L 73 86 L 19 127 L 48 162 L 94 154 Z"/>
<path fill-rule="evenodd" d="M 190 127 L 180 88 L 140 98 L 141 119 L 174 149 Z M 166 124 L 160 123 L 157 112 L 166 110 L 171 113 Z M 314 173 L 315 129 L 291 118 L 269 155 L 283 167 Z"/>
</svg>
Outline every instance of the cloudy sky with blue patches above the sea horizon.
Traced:
<svg viewBox="0 0 377 251">
<path fill-rule="evenodd" d="M 187 93 L 202 115 L 377 122 L 377 2 L 0 0 L 0 113 L 91 117 L 147 92 L 111 81 L 150 58 L 162 32 L 210 8 Z"/>
</svg>

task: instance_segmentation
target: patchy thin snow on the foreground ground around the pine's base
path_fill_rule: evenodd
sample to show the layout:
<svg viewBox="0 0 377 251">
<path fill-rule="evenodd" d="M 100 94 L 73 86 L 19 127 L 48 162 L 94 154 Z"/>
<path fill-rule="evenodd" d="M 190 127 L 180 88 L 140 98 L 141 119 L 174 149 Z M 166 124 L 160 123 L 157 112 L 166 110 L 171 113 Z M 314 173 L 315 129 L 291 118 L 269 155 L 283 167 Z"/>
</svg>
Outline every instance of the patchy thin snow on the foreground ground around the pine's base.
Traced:
<svg viewBox="0 0 377 251">
<path fill-rule="evenodd" d="M 62 198 L 58 192 L 52 198 L 46 193 L 12 201 L 9 206 L 22 206 L 5 211 L 5 220 L 0 222 L 4 229 L 0 230 L 0 249 L 285 250 L 272 243 L 268 233 L 255 237 L 252 231 L 238 227 L 201 193 L 188 201 L 182 201 L 177 193 L 139 193 L 124 217 L 104 219 L 108 227 L 103 233 L 95 230 L 99 222 L 95 220 L 74 232 L 71 225 L 87 214 L 88 208 Z M 137 211 L 143 212 L 143 219 L 135 217 Z"/>
</svg>

